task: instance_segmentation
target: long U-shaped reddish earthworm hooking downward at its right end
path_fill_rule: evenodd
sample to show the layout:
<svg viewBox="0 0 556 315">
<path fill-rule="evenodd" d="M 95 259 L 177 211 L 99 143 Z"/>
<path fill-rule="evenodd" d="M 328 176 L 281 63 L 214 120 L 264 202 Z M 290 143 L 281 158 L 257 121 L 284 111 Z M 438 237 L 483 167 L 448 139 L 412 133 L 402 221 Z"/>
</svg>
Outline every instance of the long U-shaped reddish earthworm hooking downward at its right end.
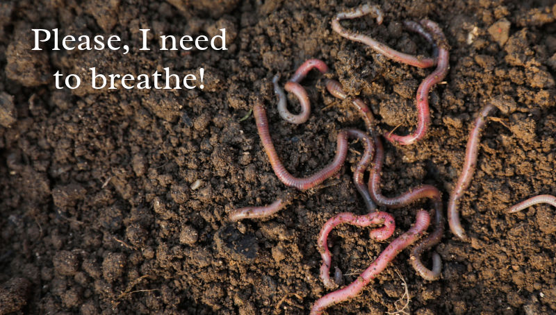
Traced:
<svg viewBox="0 0 556 315">
<path fill-rule="evenodd" d="M 345 161 L 347 155 L 347 137 L 363 137 L 366 136 L 363 133 L 357 132 L 357 130 L 341 130 L 338 133 L 338 139 L 336 140 L 336 155 L 334 160 L 328 164 L 324 169 L 321 169 L 312 176 L 306 178 L 296 178 L 289 173 L 284 164 L 280 161 L 280 158 L 276 152 L 274 144 L 272 144 L 272 137 L 270 137 L 270 131 L 268 130 L 268 119 L 266 117 L 266 110 L 261 103 L 257 103 L 253 107 L 253 115 L 256 121 L 256 128 L 259 131 L 259 137 L 261 137 L 261 142 L 263 142 L 263 147 L 265 148 L 265 153 L 268 155 L 268 160 L 270 160 L 270 165 L 272 170 L 274 170 L 276 176 L 288 187 L 295 187 L 300 190 L 311 189 L 316 185 L 329 178 L 330 176 L 337 173 Z M 368 136 L 367 136 L 368 137 Z M 365 139 L 365 137 L 363 137 Z M 363 145 L 368 146 L 361 160 L 365 160 L 366 164 L 370 162 L 370 155 L 373 154 L 373 146 L 370 146 L 370 139 L 363 142 Z M 357 173 L 362 173 L 366 169 L 366 164 L 363 165 L 361 162 L 357 165 Z M 354 177 L 356 176 L 354 174 Z M 362 183 L 362 176 L 361 176 Z M 358 186 L 359 187 L 359 186 Z M 358 188 L 359 189 L 359 188 Z M 363 198 L 365 198 L 363 196 Z M 370 198 L 368 198 L 370 201 Z"/>
</svg>

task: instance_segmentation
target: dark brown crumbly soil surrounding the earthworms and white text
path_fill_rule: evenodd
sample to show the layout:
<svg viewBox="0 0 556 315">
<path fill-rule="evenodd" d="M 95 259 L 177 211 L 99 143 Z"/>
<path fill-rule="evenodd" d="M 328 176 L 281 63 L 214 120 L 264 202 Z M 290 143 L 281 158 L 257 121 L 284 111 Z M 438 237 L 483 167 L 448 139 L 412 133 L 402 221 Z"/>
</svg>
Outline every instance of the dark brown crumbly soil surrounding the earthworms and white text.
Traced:
<svg viewBox="0 0 556 315">
<path fill-rule="evenodd" d="M 335 13 L 360 4 L 338 2 L 1 1 L 0 314 L 307 314 L 328 291 L 318 277 L 320 227 L 339 212 L 365 211 L 351 178 L 362 147 L 352 146 L 338 176 L 295 192 L 279 214 L 231 223 L 234 208 L 288 193 L 253 117 L 242 117 L 262 100 L 286 168 L 304 176 L 332 160 L 338 130 L 363 129 L 363 121 L 311 72 L 303 85 L 313 113 L 292 126 L 277 114 L 272 76 L 282 74 L 283 84 L 304 60 L 321 58 L 346 92 L 370 104 L 379 130 L 399 125 L 396 132 L 407 133 L 416 124 L 416 87 L 432 71 L 333 33 Z M 370 17 L 343 25 L 428 56 L 430 45 L 401 24 L 427 17 L 451 46 L 448 76 L 430 95 L 427 137 L 411 146 L 386 144 L 386 196 L 427 183 L 446 202 L 475 113 L 498 101 L 509 114 L 490 119 L 459 204 L 471 241 L 446 232 L 436 247 L 441 280 L 416 275 L 404 250 L 361 295 L 327 312 L 555 314 L 556 210 L 539 205 L 505 214 L 525 198 L 556 193 L 554 2 L 377 4 L 382 25 Z M 31 28 L 117 34 L 132 49 L 31 51 Z M 153 49 L 139 51 L 133 47 L 140 28 L 180 36 L 226 28 L 229 49 L 158 51 L 151 39 Z M 204 67 L 205 88 L 111 91 L 83 82 L 56 89 L 56 71 L 84 78 L 90 67 L 119 74 Z M 395 235 L 428 206 L 392 210 Z M 331 237 L 346 284 L 387 244 L 352 226 Z M 402 279 L 411 297 L 405 309 Z"/>
</svg>

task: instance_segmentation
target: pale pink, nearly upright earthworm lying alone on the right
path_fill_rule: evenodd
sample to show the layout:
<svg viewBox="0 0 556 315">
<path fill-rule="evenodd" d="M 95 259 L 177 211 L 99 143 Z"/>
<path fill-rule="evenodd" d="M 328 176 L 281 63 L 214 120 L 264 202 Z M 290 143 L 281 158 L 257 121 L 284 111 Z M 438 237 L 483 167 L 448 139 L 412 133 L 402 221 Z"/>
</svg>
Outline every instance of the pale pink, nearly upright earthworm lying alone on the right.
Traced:
<svg viewBox="0 0 556 315">
<path fill-rule="evenodd" d="M 475 167 L 477 166 L 477 155 L 479 153 L 482 128 L 484 124 L 486 124 L 486 117 L 492 114 L 494 110 L 496 110 L 496 107 L 493 105 L 486 105 L 473 122 L 473 128 L 467 140 L 464 167 L 461 169 L 461 174 L 452 190 L 452 194 L 450 194 L 450 201 L 448 201 L 448 224 L 450 225 L 450 230 L 462 240 L 467 240 L 468 237 L 465 235 L 464 228 L 461 227 L 459 221 L 457 201 L 464 195 L 465 190 L 469 187 L 469 184 L 471 184 L 471 179 L 473 178 L 473 173 L 475 173 Z"/>
</svg>

